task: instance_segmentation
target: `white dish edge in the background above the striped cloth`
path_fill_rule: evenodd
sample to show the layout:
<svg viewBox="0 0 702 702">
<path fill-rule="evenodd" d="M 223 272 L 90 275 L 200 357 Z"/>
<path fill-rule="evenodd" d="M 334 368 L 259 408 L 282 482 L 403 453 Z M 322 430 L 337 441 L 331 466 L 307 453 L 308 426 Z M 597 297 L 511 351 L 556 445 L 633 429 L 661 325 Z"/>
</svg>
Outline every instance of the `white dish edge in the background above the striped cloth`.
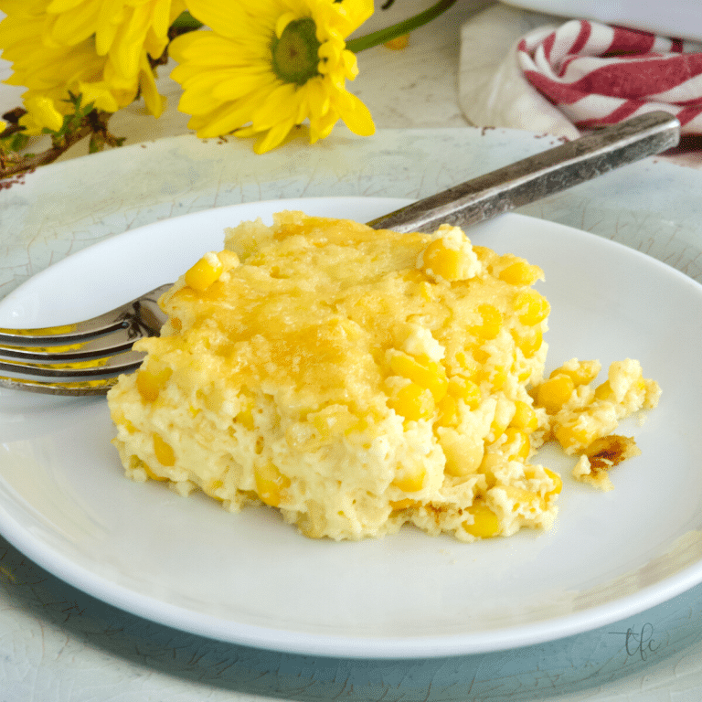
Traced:
<svg viewBox="0 0 702 702">
<path fill-rule="evenodd" d="M 608 25 L 631 27 L 662 37 L 702 41 L 702 7 L 699 0 L 503 0 L 566 19 L 594 19 Z"/>
</svg>

